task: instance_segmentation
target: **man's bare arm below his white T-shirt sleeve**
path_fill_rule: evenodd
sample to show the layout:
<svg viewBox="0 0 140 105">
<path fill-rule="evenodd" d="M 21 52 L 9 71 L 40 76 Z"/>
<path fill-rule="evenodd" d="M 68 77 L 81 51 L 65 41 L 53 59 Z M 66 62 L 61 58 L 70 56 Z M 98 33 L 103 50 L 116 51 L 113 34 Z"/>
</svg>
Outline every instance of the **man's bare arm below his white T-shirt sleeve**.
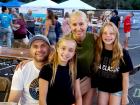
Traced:
<svg viewBox="0 0 140 105">
<path fill-rule="evenodd" d="M 20 91 L 20 90 L 19 91 L 18 90 L 11 90 L 8 102 L 16 102 L 16 103 L 18 103 L 21 95 L 22 95 L 22 91 Z"/>
</svg>

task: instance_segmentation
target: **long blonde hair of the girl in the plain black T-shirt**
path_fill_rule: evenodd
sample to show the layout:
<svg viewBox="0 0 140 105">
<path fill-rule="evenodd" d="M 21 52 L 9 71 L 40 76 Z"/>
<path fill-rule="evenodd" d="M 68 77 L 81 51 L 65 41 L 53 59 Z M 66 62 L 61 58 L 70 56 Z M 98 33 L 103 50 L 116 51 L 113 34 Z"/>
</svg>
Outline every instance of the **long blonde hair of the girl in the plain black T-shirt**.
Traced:
<svg viewBox="0 0 140 105">
<path fill-rule="evenodd" d="M 53 85 L 53 83 L 55 82 L 55 77 L 56 77 L 56 72 L 57 72 L 57 67 L 58 67 L 58 52 L 57 52 L 57 48 L 59 47 L 59 45 L 64 42 L 64 41 L 68 41 L 71 40 L 75 43 L 75 45 L 77 46 L 77 43 L 74 39 L 72 39 L 72 37 L 70 35 L 65 35 L 64 37 L 60 38 L 59 41 L 57 42 L 56 46 L 55 46 L 55 51 L 54 54 L 52 55 L 51 59 L 50 59 L 50 63 L 52 64 L 52 79 L 51 79 L 51 85 Z M 74 86 L 74 81 L 76 80 L 76 76 L 77 76 L 77 57 L 76 57 L 76 53 L 73 56 L 72 59 L 70 59 L 68 61 L 68 65 L 69 65 L 69 74 L 72 80 L 72 86 Z"/>
</svg>

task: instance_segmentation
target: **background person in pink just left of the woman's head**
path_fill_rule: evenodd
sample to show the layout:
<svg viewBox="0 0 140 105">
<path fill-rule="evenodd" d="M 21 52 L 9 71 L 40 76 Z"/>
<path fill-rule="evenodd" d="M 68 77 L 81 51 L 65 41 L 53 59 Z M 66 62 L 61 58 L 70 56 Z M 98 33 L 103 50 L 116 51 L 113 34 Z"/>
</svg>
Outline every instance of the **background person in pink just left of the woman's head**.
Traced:
<svg viewBox="0 0 140 105">
<path fill-rule="evenodd" d="M 70 32 L 71 32 L 71 28 L 69 25 L 69 13 L 66 12 L 62 22 L 62 33 L 63 35 L 68 35 Z"/>
</svg>

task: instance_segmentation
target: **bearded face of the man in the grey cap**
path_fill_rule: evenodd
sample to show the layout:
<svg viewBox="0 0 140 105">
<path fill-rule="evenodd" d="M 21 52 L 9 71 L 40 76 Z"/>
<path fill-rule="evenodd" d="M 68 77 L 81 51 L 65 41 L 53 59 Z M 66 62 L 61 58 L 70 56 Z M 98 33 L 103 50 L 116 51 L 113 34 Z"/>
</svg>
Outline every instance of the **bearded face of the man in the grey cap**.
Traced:
<svg viewBox="0 0 140 105">
<path fill-rule="evenodd" d="M 32 42 L 30 54 L 36 62 L 47 61 L 50 53 L 50 46 L 43 40 L 35 40 Z"/>
</svg>

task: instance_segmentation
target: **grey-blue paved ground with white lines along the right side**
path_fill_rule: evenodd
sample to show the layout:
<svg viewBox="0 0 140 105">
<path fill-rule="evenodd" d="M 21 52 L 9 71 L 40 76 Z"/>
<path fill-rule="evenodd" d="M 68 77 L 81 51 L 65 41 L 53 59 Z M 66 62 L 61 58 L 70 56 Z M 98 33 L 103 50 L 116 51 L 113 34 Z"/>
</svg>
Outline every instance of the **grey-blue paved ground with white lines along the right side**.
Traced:
<svg viewBox="0 0 140 105">
<path fill-rule="evenodd" d="M 120 29 L 120 41 L 123 43 L 124 33 Z M 129 39 L 129 54 L 135 70 L 140 68 L 140 30 L 132 30 Z M 129 105 L 140 105 L 140 71 L 130 76 Z"/>
</svg>

